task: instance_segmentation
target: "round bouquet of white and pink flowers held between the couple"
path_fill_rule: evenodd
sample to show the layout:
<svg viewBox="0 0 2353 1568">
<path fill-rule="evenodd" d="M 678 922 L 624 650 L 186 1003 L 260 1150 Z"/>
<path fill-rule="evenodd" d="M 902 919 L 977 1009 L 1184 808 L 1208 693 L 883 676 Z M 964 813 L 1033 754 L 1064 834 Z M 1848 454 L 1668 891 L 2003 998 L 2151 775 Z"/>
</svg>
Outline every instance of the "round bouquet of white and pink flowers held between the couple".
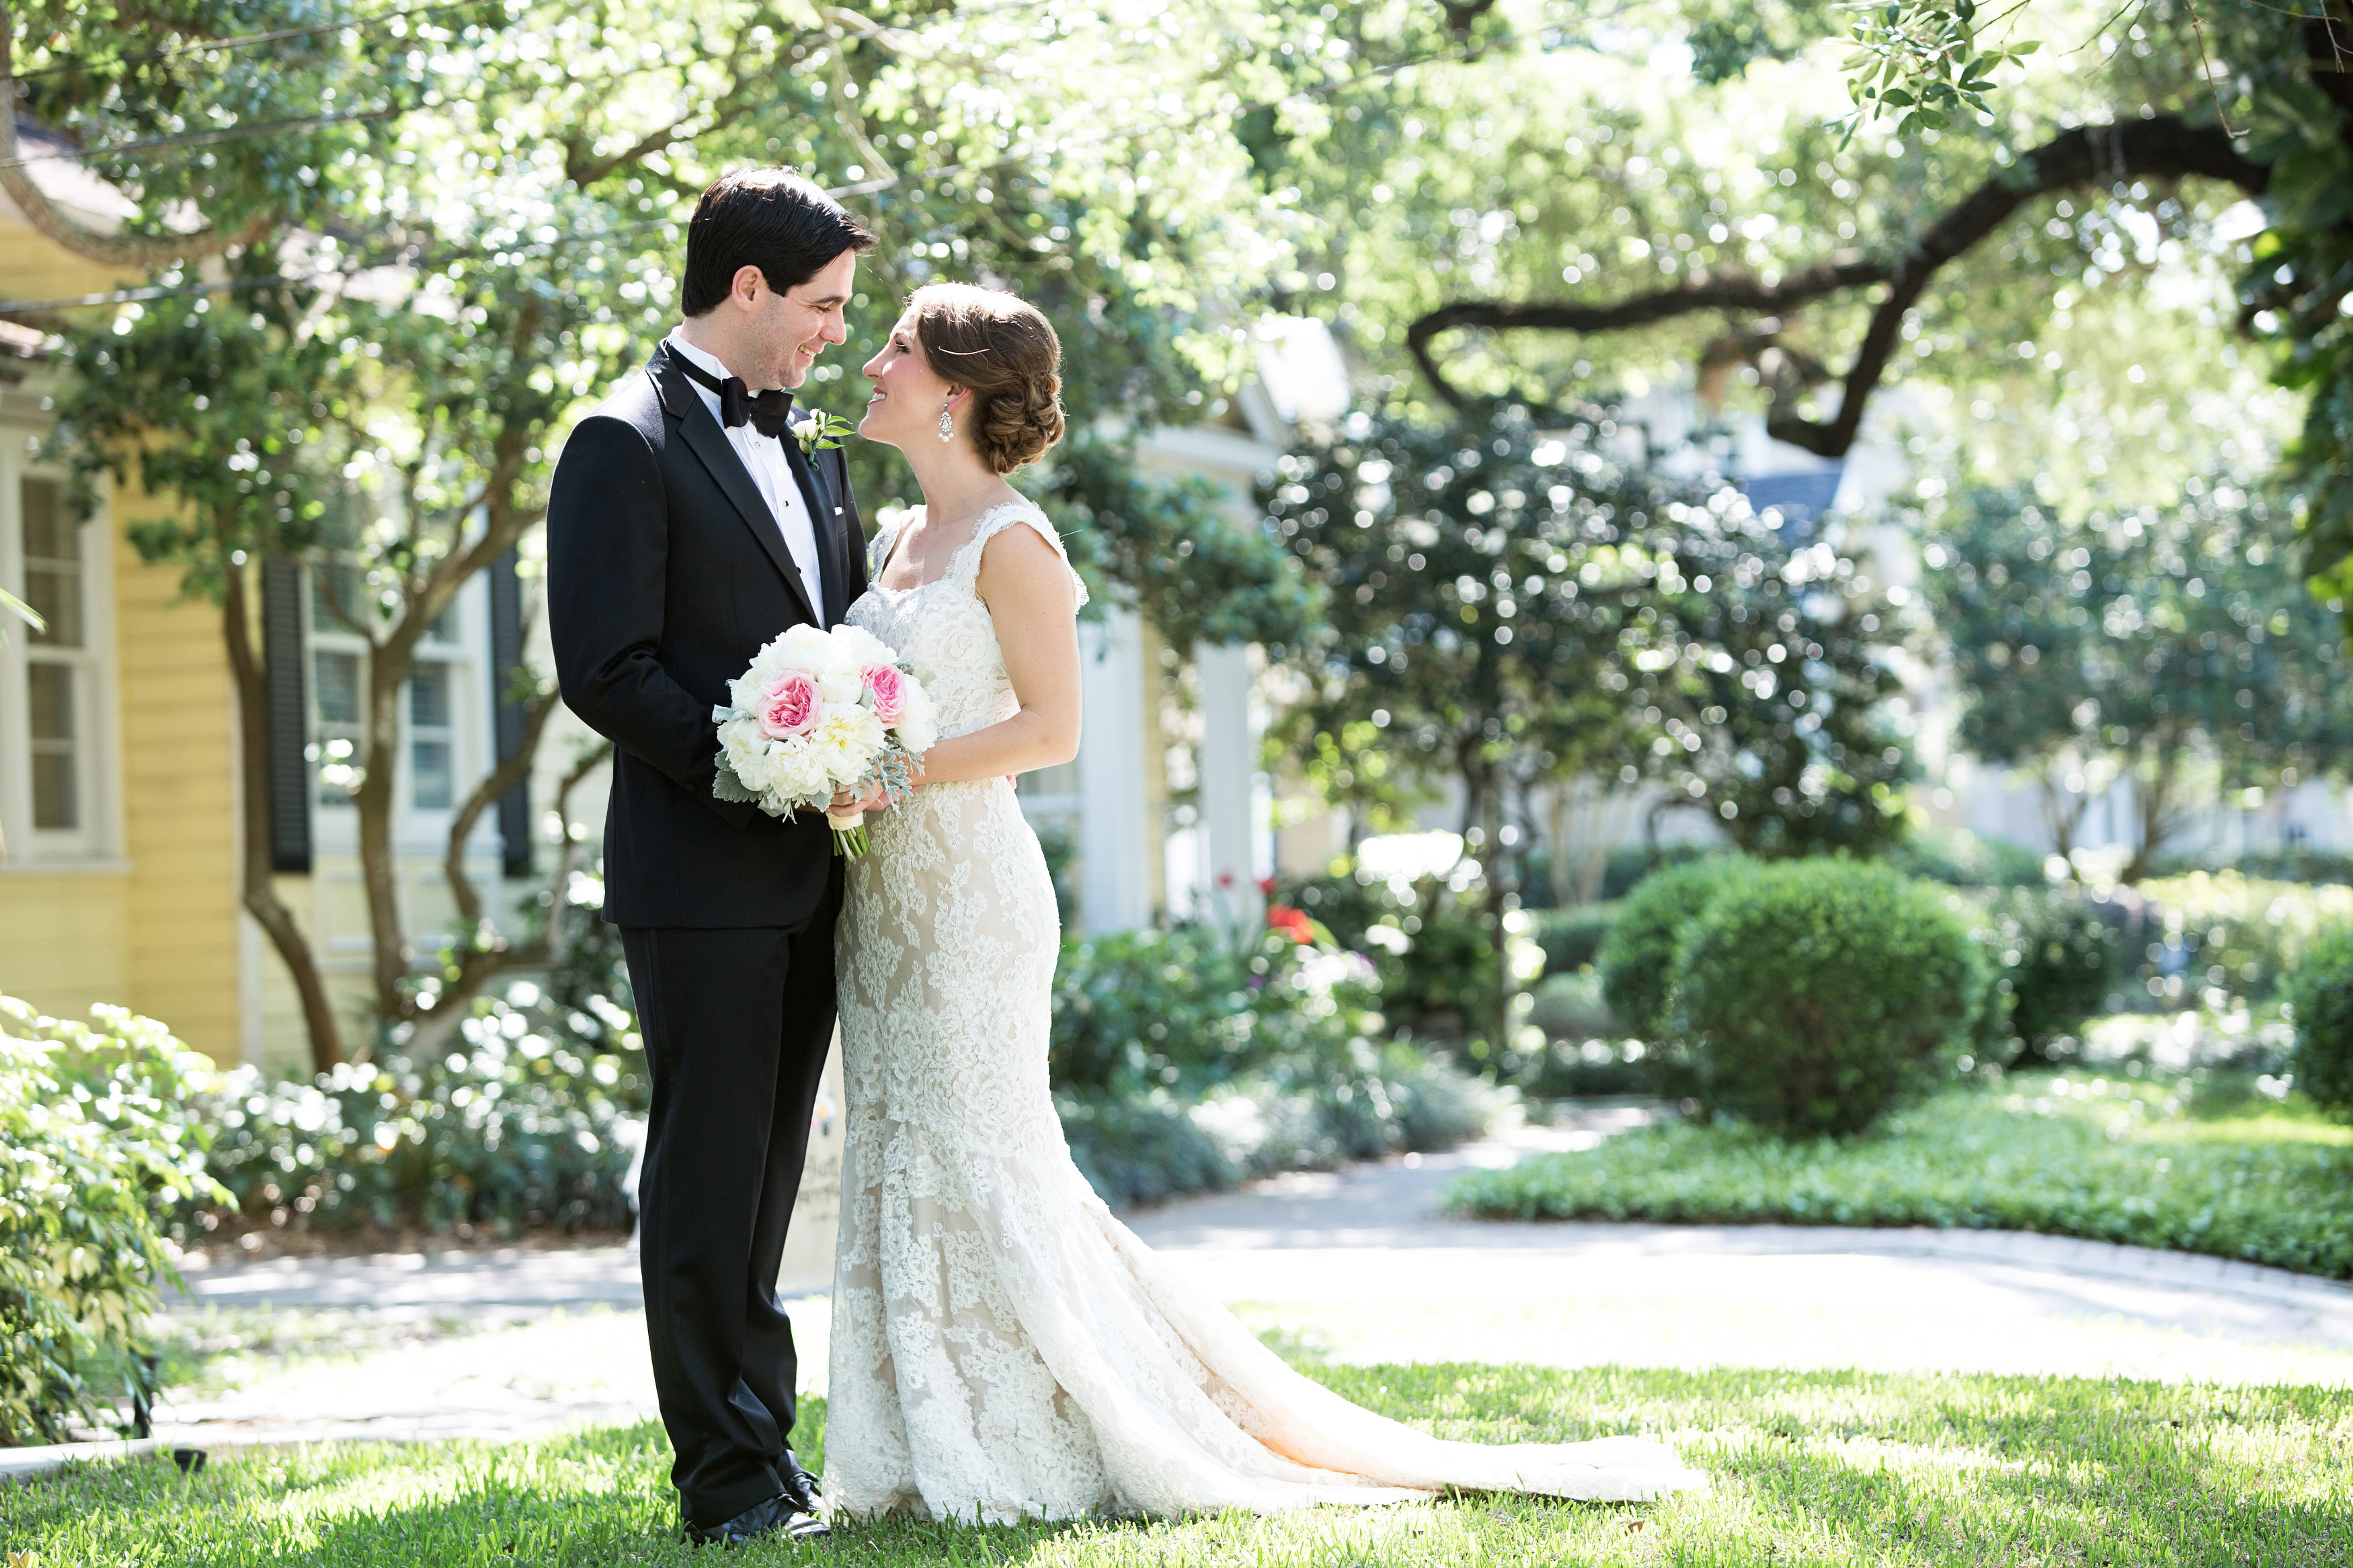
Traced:
<svg viewBox="0 0 2353 1568">
<path fill-rule="evenodd" d="M 835 790 L 880 785 L 892 802 L 939 738 L 932 698 L 880 637 L 856 625 L 821 632 L 795 625 L 760 649 L 727 682 L 720 726 L 720 799 L 751 802 L 769 816 L 826 809 Z M 833 853 L 866 853 L 866 816 L 826 811 Z"/>
</svg>

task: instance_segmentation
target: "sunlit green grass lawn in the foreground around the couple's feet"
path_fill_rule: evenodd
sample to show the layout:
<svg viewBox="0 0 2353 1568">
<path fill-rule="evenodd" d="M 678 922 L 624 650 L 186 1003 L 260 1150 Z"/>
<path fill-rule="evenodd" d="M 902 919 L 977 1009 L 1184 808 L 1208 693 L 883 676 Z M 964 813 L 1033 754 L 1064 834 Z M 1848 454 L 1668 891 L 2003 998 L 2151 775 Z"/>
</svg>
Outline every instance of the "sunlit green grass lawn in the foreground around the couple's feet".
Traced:
<svg viewBox="0 0 2353 1568">
<path fill-rule="evenodd" d="M 1278 1519 L 866 1526 L 741 1561 L 1068 1563 L 2353 1563 L 2353 1392 L 1866 1373 L 1311 1366 L 1440 1436 L 1640 1432 L 1715 1490 L 1649 1507 L 1466 1497 Z M 824 1406 L 800 1436 L 821 1458 Z M 687 1563 L 659 1427 L 539 1443 L 322 1446 L 85 1467 L 0 1488 L 38 1568 Z M 12 1559 L 24 1561 L 24 1559 Z M 708 1561 L 708 1559 L 706 1559 Z"/>
</svg>

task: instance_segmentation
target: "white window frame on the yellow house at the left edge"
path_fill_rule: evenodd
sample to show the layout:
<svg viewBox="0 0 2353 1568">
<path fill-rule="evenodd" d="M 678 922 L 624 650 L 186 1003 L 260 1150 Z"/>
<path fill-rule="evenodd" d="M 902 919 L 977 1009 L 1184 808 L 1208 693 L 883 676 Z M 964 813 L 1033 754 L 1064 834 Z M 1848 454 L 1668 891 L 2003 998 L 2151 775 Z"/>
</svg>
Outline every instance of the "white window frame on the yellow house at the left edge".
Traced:
<svg viewBox="0 0 2353 1568">
<path fill-rule="evenodd" d="M 26 592 L 24 484 L 66 487 L 66 473 L 33 463 L 28 440 L 0 440 L 0 585 Z M 115 701 L 115 583 L 113 517 L 101 505 L 75 527 L 80 545 L 82 642 L 75 649 L 35 644 L 33 628 L 12 614 L 0 642 L 0 832 L 7 835 L 5 872 L 120 870 L 122 785 L 120 717 Z M 33 708 L 31 668 L 73 670 L 75 825 L 33 825 Z"/>
</svg>

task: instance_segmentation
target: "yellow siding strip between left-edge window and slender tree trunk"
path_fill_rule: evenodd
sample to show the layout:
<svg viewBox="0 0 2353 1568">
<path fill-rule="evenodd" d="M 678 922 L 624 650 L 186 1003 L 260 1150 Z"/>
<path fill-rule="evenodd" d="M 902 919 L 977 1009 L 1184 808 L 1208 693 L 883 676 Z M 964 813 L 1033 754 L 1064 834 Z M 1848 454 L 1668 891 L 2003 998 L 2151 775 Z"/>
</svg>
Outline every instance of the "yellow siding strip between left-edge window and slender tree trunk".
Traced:
<svg viewBox="0 0 2353 1568">
<path fill-rule="evenodd" d="M 115 538 L 169 503 L 125 484 Z M 235 705 L 219 611 L 179 599 L 179 567 L 115 545 L 122 705 L 122 924 L 129 994 L 216 1063 L 240 1058 Z"/>
</svg>

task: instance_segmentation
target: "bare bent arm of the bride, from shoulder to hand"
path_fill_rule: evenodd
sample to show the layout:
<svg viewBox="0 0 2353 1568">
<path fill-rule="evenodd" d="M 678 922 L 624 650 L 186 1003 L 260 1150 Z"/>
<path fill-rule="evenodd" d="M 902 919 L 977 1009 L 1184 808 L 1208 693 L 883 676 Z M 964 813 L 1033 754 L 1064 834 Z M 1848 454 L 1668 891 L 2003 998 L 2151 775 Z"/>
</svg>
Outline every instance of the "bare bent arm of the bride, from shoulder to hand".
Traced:
<svg viewBox="0 0 2353 1568">
<path fill-rule="evenodd" d="M 981 545 L 979 595 L 998 628 L 1021 712 L 941 741 L 915 783 L 1000 778 L 1078 755 L 1078 592 L 1071 569 L 1035 529 L 1012 527 Z"/>
</svg>

